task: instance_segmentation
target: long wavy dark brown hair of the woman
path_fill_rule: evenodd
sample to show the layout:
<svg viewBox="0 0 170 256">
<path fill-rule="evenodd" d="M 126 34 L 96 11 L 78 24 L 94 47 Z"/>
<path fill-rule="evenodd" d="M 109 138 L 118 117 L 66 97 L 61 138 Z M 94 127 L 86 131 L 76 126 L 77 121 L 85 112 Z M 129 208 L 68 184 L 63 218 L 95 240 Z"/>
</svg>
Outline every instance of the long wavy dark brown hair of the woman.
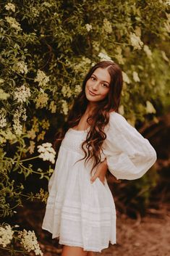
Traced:
<svg viewBox="0 0 170 256">
<path fill-rule="evenodd" d="M 75 127 L 80 122 L 80 119 L 88 106 L 88 99 L 85 96 L 85 85 L 98 67 L 108 70 L 111 82 L 109 93 L 106 95 L 105 99 L 98 102 L 92 114 L 88 117 L 87 122 L 90 125 L 90 129 L 88 129 L 86 140 L 82 143 L 82 150 L 85 153 L 85 156 L 80 160 L 85 159 L 86 163 L 90 159 L 93 159 L 92 170 L 101 162 L 101 146 L 106 139 L 106 133 L 104 133 L 103 129 L 109 123 L 109 112 L 117 112 L 119 108 L 123 83 L 122 70 L 119 65 L 112 61 L 102 61 L 90 68 L 82 82 L 82 91 L 75 99 L 72 109 L 69 111 L 67 122 L 64 123 L 63 128 L 56 135 L 57 139 L 55 141 L 56 146 L 59 149 L 67 130 Z"/>
</svg>

